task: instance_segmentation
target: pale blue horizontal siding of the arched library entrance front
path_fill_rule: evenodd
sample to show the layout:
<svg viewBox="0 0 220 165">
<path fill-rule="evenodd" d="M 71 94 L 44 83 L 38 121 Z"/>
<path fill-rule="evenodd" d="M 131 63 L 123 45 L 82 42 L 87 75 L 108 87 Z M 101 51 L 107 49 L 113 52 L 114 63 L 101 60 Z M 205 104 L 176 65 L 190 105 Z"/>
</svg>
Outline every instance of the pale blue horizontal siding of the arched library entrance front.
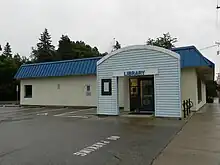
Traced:
<svg viewBox="0 0 220 165">
<path fill-rule="evenodd" d="M 157 68 L 155 75 L 155 115 L 161 117 L 181 116 L 180 59 L 150 49 L 133 49 L 120 52 L 98 65 L 98 113 L 117 114 L 115 71 Z M 112 96 L 101 96 L 101 79 L 111 78 Z M 113 107 L 112 107 L 113 106 Z"/>
</svg>

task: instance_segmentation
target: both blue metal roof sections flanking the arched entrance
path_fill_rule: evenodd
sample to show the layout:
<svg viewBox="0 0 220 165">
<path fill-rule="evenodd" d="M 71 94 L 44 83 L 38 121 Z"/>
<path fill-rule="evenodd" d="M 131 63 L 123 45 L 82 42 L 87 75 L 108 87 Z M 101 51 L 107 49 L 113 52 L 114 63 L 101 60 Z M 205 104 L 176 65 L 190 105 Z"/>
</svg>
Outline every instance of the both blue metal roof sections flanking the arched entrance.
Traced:
<svg viewBox="0 0 220 165">
<path fill-rule="evenodd" d="M 215 64 L 205 58 L 195 46 L 174 48 L 172 51 L 180 54 L 181 68 L 206 66 L 214 68 Z M 16 79 L 60 77 L 71 75 L 96 74 L 96 63 L 101 57 L 76 60 L 44 62 L 22 65 L 15 75 Z"/>
</svg>

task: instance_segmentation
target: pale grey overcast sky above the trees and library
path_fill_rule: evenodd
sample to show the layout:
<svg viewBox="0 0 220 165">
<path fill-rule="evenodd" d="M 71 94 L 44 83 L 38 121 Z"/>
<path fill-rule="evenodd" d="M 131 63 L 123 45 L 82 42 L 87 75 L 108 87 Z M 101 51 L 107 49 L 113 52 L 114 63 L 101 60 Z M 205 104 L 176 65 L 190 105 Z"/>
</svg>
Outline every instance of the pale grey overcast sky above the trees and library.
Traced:
<svg viewBox="0 0 220 165">
<path fill-rule="evenodd" d="M 144 44 L 170 32 L 176 46 L 198 49 L 220 41 L 216 0 L 0 0 L 0 44 L 29 56 L 40 33 L 48 28 L 53 44 L 62 34 L 109 51 L 113 38 L 122 46 Z M 216 63 L 217 48 L 202 53 Z"/>
</svg>

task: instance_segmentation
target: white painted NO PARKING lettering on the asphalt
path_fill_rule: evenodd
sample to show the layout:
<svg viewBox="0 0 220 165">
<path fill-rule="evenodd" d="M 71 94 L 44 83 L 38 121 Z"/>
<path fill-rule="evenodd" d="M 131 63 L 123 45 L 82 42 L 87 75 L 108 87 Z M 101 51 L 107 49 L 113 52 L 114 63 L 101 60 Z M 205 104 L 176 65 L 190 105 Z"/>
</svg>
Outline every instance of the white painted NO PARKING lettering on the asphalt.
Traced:
<svg viewBox="0 0 220 165">
<path fill-rule="evenodd" d="M 75 153 L 73 153 L 73 155 L 86 156 L 86 155 L 90 154 L 91 152 L 97 151 L 98 149 L 102 148 L 103 146 L 109 144 L 111 141 L 116 141 L 116 140 L 120 139 L 120 136 L 110 136 L 106 139 L 107 140 L 101 140 L 101 141 L 99 141 L 89 147 L 86 147 L 86 148 L 80 150 L 79 152 L 75 152 Z"/>
</svg>

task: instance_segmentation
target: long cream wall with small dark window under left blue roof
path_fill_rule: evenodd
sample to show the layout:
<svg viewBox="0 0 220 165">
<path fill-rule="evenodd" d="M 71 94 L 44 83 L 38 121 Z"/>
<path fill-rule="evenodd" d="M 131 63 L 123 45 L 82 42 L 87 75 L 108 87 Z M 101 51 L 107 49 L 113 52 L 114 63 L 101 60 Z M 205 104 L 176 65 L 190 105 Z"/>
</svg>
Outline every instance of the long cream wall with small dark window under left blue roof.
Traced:
<svg viewBox="0 0 220 165">
<path fill-rule="evenodd" d="M 32 85 L 32 98 L 24 98 L 24 85 Z M 86 96 L 86 85 L 91 85 L 91 96 Z M 96 106 L 96 96 L 96 76 L 21 80 L 22 105 Z"/>
</svg>

